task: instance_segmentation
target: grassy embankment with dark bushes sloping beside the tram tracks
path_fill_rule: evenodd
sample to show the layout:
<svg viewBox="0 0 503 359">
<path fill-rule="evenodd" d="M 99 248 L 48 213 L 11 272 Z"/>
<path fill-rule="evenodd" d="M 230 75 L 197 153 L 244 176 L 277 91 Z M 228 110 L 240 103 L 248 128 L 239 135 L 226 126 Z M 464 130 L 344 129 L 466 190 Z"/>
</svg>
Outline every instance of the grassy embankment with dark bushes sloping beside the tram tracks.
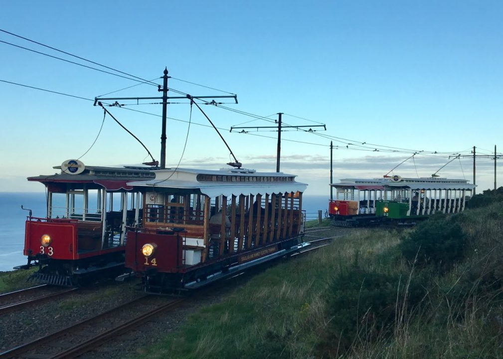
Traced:
<svg viewBox="0 0 503 359">
<path fill-rule="evenodd" d="M 148 358 L 503 356 L 503 205 L 361 229 L 269 268 Z"/>
</svg>

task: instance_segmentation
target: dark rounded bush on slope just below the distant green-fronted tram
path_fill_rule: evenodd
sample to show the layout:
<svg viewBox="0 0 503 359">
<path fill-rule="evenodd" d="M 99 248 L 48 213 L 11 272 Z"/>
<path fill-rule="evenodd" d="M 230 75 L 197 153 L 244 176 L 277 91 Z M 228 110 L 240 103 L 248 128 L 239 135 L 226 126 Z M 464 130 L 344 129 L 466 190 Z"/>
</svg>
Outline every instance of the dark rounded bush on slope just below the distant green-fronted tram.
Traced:
<svg viewBox="0 0 503 359">
<path fill-rule="evenodd" d="M 418 266 L 435 264 L 446 269 L 463 259 L 466 235 L 461 226 L 449 217 L 432 216 L 417 225 L 399 244 L 402 255 Z"/>
</svg>

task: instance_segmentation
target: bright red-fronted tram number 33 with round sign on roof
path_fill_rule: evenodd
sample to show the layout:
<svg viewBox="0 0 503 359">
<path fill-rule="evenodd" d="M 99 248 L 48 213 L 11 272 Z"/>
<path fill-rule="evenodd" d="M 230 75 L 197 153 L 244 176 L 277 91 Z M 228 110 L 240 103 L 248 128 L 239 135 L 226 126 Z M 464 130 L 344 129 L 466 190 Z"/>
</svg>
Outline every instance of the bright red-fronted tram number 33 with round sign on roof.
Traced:
<svg viewBox="0 0 503 359">
<path fill-rule="evenodd" d="M 77 173 L 54 168 L 61 172 L 28 178 L 45 185 L 47 214 L 27 218 L 28 264 L 21 267 L 38 265 L 31 280 L 61 286 L 103 271 L 122 273 L 126 226 L 142 220 L 142 194 L 128 182 L 154 178 L 154 171 L 83 164 Z"/>
</svg>

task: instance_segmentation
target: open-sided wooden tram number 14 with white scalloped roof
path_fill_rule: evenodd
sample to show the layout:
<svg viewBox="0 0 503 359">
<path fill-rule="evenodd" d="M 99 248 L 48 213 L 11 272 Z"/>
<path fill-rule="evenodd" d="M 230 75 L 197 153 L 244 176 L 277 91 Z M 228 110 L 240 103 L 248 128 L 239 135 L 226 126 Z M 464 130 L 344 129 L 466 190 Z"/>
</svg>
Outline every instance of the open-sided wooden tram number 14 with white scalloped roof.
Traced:
<svg viewBox="0 0 503 359">
<path fill-rule="evenodd" d="M 307 185 L 294 175 L 179 168 L 130 185 L 145 196 L 142 226 L 127 232 L 126 267 L 147 292 L 198 288 L 306 245 Z"/>
</svg>

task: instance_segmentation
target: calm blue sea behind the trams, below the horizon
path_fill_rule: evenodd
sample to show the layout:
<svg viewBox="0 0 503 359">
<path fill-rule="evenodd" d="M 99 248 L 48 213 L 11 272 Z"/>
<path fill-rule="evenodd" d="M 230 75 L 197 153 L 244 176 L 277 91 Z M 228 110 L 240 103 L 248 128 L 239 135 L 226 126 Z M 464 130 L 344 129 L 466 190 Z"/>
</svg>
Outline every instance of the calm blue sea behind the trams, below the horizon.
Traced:
<svg viewBox="0 0 503 359">
<path fill-rule="evenodd" d="M 328 205 L 327 196 L 302 197 L 302 208 L 306 211 L 308 220 L 318 218 L 318 210 L 322 216 Z M 31 209 L 34 217 L 46 216 L 46 195 L 44 192 L 0 192 L 0 271 L 12 271 L 16 265 L 26 264 L 23 255 L 25 240 L 25 221 Z"/>
</svg>

